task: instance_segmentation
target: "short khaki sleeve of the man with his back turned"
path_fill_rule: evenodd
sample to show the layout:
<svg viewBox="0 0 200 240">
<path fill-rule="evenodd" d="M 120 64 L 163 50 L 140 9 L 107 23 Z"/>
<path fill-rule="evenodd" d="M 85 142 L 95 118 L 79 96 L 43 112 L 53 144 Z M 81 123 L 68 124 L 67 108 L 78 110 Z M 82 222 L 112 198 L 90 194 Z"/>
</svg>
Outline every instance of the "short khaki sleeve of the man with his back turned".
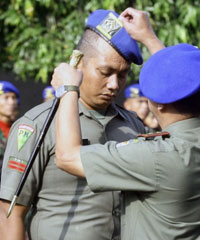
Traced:
<svg viewBox="0 0 200 240">
<path fill-rule="evenodd" d="M 81 148 L 81 161 L 90 188 L 97 191 L 156 191 L 156 166 L 148 143 L 129 141 Z"/>
</svg>

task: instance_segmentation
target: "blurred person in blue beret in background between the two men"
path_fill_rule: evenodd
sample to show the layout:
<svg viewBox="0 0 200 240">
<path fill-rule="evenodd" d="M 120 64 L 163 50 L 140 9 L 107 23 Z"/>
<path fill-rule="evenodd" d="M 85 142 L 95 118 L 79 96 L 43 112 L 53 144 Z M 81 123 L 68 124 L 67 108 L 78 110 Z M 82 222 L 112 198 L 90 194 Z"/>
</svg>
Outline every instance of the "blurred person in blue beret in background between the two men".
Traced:
<svg viewBox="0 0 200 240">
<path fill-rule="evenodd" d="M 140 90 L 139 83 L 129 85 L 124 90 L 124 95 L 126 98 L 123 104 L 124 108 L 137 113 L 138 117 L 143 121 L 147 132 L 160 130 L 158 121 L 149 110 L 148 99 Z"/>
</svg>

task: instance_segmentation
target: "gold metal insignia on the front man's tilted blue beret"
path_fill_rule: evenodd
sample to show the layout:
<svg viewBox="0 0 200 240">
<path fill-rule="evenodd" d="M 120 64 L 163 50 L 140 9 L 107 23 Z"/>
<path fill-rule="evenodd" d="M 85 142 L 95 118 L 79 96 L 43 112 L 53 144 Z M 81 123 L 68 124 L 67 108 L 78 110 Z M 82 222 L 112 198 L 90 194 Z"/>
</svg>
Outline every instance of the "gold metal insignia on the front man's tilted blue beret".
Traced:
<svg viewBox="0 0 200 240">
<path fill-rule="evenodd" d="M 121 28 L 122 23 L 113 13 L 109 13 L 97 26 L 97 29 L 108 39 L 111 39 Z"/>
</svg>

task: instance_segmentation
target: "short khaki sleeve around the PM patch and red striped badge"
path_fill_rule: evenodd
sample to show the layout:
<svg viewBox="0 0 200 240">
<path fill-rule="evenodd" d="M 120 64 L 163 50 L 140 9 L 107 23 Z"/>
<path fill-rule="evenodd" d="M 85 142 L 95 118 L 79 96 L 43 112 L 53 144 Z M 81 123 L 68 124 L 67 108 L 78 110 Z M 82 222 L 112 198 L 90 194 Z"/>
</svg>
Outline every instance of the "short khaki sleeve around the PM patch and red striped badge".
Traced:
<svg viewBox="0 0 200 240">
<path fill-rule="evenodd" d="M 18 131 L 20 125 L 26 125 L 29 128 L 32 128 L 33 133 L 19 150 Z M 11 201 L 23 174 L 23 172 L 21 171 L 10 168 L 9 160 L 11 158 L 14 158 L 17 159 L 16 161 L 23 161 L 24 164 L 27 164 L 39 133 L 40 129 L 38 129 L 34 122 L 25 117 L 22 117 L 21 119 L 16 121 L 15 124 L 13 124 L 8 138 L 8 143 L 3 160 L 0 199 Z M 43 149 L 43 146 L 41 147 L 41 149 Z M 38 153 L 36 161 L 34 162 L 28 178 L 26 179 L 26 182 L 17 201 L 18 204 L 29 206 L 34 198 L 35 193 L 39 188 L 40 180 L 38 176 L 42 174 L 41 165 L 44 164 L 41 160 L 41 156 L 44 156 L 42 150 Z"/>
</svg>

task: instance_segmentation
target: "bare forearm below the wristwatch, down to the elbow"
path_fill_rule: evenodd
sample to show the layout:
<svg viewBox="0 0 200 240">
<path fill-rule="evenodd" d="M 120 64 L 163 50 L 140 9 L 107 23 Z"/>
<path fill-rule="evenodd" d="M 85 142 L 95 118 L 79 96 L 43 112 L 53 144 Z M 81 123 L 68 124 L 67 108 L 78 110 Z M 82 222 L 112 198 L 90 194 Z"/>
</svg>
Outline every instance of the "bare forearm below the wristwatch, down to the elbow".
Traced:
<svg viewBox="0 0 200 240">
<path fill-rule="evenodd" d="M 83 177 L 81 144 L 78 94 L 68 92 L 60 100 L 56 118 L 56 164 L 71 174 Z"/>
</svg>

